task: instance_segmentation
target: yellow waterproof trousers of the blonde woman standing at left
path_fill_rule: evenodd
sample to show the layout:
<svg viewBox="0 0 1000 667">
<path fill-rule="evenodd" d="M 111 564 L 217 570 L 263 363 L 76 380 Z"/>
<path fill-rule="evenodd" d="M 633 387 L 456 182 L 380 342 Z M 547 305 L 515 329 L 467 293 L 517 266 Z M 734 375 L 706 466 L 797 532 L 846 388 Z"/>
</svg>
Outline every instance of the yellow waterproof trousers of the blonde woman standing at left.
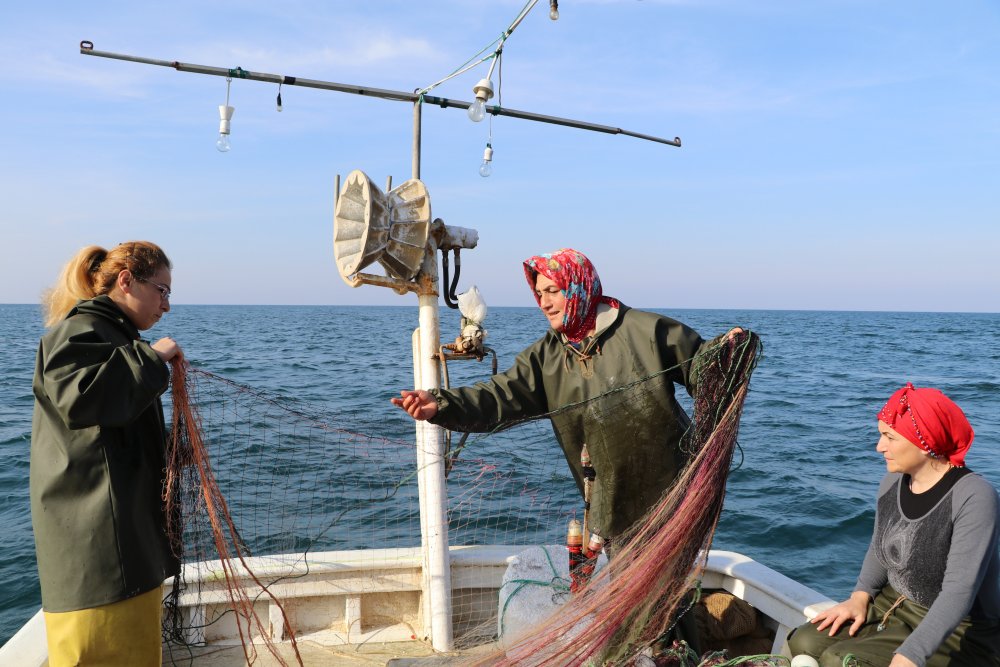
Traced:
<svg viewBox="0 0 1000 667">
<path fill-rule="evenodd" d="M 93 609 L 45 612 L 49 667 L 159 667 L 159 588 Z"/>
</svg>

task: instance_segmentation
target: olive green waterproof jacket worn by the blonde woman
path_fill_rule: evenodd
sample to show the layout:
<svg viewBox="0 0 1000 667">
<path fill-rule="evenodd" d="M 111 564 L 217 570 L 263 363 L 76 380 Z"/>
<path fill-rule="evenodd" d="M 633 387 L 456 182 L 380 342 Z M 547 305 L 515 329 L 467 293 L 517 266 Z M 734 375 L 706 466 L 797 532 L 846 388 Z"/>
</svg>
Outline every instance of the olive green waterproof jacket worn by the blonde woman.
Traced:
<svg viewBox="0 0 1000 667">
<path fill-rule="evenodd" d="M 106 296 L 42 337 L 30 493 L 46 611 L 124 600 L 177 573 L 161 499 L 169 377 Z"/>
</svg>

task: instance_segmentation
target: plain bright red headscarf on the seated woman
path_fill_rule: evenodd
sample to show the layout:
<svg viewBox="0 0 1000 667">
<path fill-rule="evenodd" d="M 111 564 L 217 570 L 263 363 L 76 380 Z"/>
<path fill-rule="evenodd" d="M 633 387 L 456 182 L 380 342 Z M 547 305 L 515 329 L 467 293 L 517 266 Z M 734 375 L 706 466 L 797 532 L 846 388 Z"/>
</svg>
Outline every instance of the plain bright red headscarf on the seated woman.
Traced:
<svg viewBox="0 0 1000 667">
<path fill-rule="evenodd" d="M 914 445 L 958 467 L 965 465 L 976 435 L 962 409 L 939 389 L 917 389 L 909 382 L 889 397 L 878 418 Z"/>
</svg>

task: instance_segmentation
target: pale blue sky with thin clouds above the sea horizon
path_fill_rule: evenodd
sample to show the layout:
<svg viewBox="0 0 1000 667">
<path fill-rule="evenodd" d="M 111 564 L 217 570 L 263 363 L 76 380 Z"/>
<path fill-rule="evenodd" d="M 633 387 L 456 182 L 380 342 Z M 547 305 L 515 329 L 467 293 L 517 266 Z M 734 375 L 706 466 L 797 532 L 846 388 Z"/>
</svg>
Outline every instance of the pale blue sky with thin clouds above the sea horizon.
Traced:
<svg viewBox="0 0 1000 667">
<path fill-rule="evenodd" d="M 225 79 L 104 51 L 412 91 L 521 0 L 15 3 L 0 26 L 0 303 L 78 248 L 146 238 L 176 303 L 415 303 L 338 277 L 333 182 L 410 176 L 407 103 Z M 1000 4 L 541 2 L 494 73 L 503 106 L 673 148 L 426 107 L 433 214 L 478 230 L 459 291 L 532 305 L 520 262 L 587 253 L 634 306 L 1000 311 Z M 470 100 L 480 65 L 432 94 Z M 498 76 L 502 72 L 502 78 Z M 494 102 L 496 100 L 493 100 Z"/>
</svg>

